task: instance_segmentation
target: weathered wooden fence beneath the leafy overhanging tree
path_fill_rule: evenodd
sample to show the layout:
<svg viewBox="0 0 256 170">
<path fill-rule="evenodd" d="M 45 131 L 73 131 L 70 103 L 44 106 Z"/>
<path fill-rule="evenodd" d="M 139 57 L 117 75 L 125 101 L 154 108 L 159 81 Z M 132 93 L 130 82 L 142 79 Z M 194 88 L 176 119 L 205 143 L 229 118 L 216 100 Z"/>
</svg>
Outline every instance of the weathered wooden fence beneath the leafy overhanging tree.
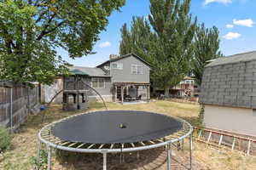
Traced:
<svg viewBox="0 0 256 170">
<path fill-rule="evenodd" d="M 39 104 L 39 87 L 12 87 L 0 83 L 0 125 L 15 129 L 26 121 L 29 112 Z"/>
</svg>

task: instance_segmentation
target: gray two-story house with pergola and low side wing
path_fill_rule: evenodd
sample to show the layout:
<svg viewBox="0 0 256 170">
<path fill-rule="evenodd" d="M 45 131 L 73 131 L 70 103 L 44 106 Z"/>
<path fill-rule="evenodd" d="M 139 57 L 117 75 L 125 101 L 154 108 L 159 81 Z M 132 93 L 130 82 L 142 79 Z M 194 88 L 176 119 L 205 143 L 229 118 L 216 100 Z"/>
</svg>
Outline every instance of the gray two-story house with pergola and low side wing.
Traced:
<svg viewBox="0 0 256 170">
<path fill-rule="evenodd" d="M 62 87 L 66 91 L 70 90 L 70 87 L 73 87 L 70 82 L 74 81 L 76 75 L 83 75 L 83 80 L 90 84 L 91 88 L 96 89 L 106 101 L 124 102 L 125 99 L 150 99 L 150 65 L 136 54 L 122 56 L 111 54 L 109 59 L 101 65 L 96 67 L 73 66 L 70 71 L 73 76 L 59 77 L 53 85 L 44 88 L 47 89 L 44 90 L 44 96 L 47 96 L 45 99 L 50 99 L 55 94 L 54 92 Z M 60 104 L 62 97 L 63 94 L 60 94 L 55 99 L 55 103 Z M 93 91 L 87 93 L 87 97 L 89 100 L 99 99 Z"/>
</svg>

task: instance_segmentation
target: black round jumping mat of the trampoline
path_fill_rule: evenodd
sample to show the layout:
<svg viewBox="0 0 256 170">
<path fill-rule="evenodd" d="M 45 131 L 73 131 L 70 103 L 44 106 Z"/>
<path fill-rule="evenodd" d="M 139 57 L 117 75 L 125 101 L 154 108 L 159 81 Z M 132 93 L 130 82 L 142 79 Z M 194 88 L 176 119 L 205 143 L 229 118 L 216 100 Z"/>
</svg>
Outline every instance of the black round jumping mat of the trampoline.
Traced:
<svg viewBox="0 0 256 170">
<path fill-rule="evenodd" d="M 158 139 L 176 133 L 183 122 L 145 111 L 96 111 L 52 127 L 55 137 L 80 143 L 117 144 Z"/>
</svg>

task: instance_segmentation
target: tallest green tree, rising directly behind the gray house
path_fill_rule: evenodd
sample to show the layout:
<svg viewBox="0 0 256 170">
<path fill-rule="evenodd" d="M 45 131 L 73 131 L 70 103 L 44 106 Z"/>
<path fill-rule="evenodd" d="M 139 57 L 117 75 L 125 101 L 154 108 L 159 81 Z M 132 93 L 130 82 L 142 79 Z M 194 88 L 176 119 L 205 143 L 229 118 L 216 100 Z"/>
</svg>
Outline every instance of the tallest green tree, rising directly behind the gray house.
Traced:
<svg viewBox="0 0 256 170">
<path fill-rule="evenodd" d="M 167 96 L 191 66 L 196 19 L 189 13 L 190 2 L 150 0 L 148 20 L 137 17 L 131 31 L 121 29 L 120 54 L 132 52 L 146 59 L 153 67 L 154 86 L 165 88 Z"/>
</svg>

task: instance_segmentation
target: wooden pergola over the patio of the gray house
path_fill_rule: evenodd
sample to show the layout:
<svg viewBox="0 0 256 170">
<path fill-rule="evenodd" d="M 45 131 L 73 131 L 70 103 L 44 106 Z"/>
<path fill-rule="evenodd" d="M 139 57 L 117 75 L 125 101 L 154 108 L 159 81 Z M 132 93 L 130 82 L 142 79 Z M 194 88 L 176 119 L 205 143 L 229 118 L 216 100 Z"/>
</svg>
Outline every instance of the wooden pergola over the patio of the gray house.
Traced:
<svg viewBox="0 0 256 170">
<path fill-rule="evenodd" d="M 138 88 L 139 87 L 145 87 L 147 88 L 147 100 L 150 99 L 150 83 L 149 82 L 113 82 L 113 88 L 114 88 L 114 101 L 117 99 L 117 88 L 121 88 L 121 103 L 124 103 L 124 89 L 127 89 L 128 87 L 134 86 L 137 90 L 137 97 L 138 97 Z"/>
</svg>

